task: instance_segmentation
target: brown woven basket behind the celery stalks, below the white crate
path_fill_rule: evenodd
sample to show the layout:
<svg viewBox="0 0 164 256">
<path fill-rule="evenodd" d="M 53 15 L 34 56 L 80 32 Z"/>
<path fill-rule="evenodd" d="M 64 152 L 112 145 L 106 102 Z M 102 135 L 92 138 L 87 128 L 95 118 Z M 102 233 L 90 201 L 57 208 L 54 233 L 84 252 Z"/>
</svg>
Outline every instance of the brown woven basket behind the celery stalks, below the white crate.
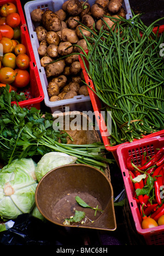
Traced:
<svg viewBox="0 0 164 256">
<path fill-rule="evenodd" d="M 67 143 L 68 144 L 77 144 L 77 145 L 82 145 L 82 144 L 92 144 L 94 142 L 101 142 L 101 139 L 98 135 L 98 132 L 95 130 L 95 127 L 92 125 L 92 120 L 89 118 L 88 115 L 78 112 L 78 111 L 72 111 L 72 112 L 63 112 L 63 113 L 54 113 L 52 114 L 54 117 L 54 120 L 60 120 L 62 118 L 63 120 L 63 130 L 65 130 L 69 136 L 67 137 Z M 77 122 L 77 126 L 75 127 L 75 130 L 67 129 L 66 126 L 71 124 L 72 120 L 75 120 L 76 118 L 81 119 L 81 122 Z M 79 120 L 79 119 L 78 119 Z M 82 125 L 85 123 L 85 130 L 83 130 Z M 110 170 L 109 166 L 107 165 L 107 168 L 104 170 L 104 173 L 110 180 Z"/>
</svg>

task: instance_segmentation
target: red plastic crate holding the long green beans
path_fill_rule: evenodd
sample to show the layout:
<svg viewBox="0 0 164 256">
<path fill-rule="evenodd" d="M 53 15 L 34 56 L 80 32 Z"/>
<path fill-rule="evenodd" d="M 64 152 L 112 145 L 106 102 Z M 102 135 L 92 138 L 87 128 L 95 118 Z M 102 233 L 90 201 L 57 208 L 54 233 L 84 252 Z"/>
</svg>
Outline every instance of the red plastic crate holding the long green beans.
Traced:
<svg viewBox="0 0 164 256">
<path fill-rule="evenodd" d="M 157 32 L 157 27 L 155 27 L 153 31 L 154 31 L 154 33 L 156 33 Z M 163 31 L 164 31 L 164 25 L 159 27 L 159 33 L 163 33 Z M 87 53 L 88 53 L 88 51 L 86 51 L 86 54 Z M 122 144 L 118 144 L 116 146 L 110 146 L 110 137 L 103 135 L 103 134 L 107 134 L 107 126 L 106 126 L 106 122 L 105 122 L 105 120 L 103 118 L 103 115 L 101 115 L 101 108 L 102 108 L 101 101 L 99 100 L 98 96 L 94 93 L 95 87 L 94 87 L 93 82 L 89 78 L 89 75 L 87 74 L 86 69 L 85 69 L 85 65 L 86 65 L 87 68 L 89 68 L 89 63 L 87 62 L 86 59 L 84 59 L 84 61 L 85 61 L 85 65 L 84 65 L 84 62 L 81 59 L 81 56 L 79 56 L 79 61 L 80 61 L 81 68 L 83 69 L 83 74 L 84 74 L 85 82 L 91 88 L 90 89 L 88 87 L 88 91 L 89 91 L 92 107 L 93 107 L 93 110 L 95 112 L 95 117 L 96 117 L 96 120 L 97 120 L 99 131 L 100 131 L 101 136 L 102 136 L 102 140 L 103 140 L 104 146 L 106 147 L 106 149 L 109 152 L 112 152 L 116 162 L 119 165 L 118 155 L 116 153 L 116 150 L 118 149 L 118 147 L 120 145 L 122 145 L 122 144 L 126 145 L 126 144 L 129 144 L 130 142 L 125 142 L 125 143 L 122 143 Z M 151 138 L 151 137 L 154 137 L 154 136 L 158 136 L 158 135 L 161 135 L 163 132 L 164 132 L 164 130 L 161 130 L 161 131 L 158 131 L 158 132 L 154 132 L 154 133 L 151 133 L 149 135 L 144 136 L 144 138 Z M 134 142 L 135 141 L 138 141 L 138 139 L 134 139 Z"/>
</svg>

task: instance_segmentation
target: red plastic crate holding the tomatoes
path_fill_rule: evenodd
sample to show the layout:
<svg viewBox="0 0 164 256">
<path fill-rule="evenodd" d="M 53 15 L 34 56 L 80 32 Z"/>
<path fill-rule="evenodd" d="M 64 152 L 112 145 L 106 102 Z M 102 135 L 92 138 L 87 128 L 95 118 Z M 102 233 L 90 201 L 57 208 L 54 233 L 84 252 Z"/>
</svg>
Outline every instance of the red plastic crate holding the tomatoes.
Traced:
<svg viewBox="0 0 164 256">
<path fill-rule="evenodd" d="M 19 13 L 20 18 L 21 18 L 21 23 L 20 23 L 20 28 L 21 28 L 21 42 L 26 46 L 27 49 L 27 55 L 30 57 L 30 67 L 29 67 L 29 72 L 30 72 L 30 84 L 26 86 L 26 88 L 22 88 L 22 92 L 25 93 L 26 100 L 25 101 L 20 101 L 19 105 L 21 107 L 36 107 L 37 109 L 40 109 L 40 102 L 44 100 L 44 93 L 42 89 L 42 84 L 40 82 L 40 77 L 38 73 L 38 68 L 36 65 L 36 60 L 34 57 L 32 45 L 31 45 L 31 40 L 30 36 L 28 34 L 28 28 L 26 25 L 26 20 L 24 16 L 24 12 L 22 10 L 21 2 L 20 0 L 10 0 L 10 1 L 0 1 L 0 6 L 2 6 L 4 3 L 14 3 L 17 8 L 17 13 Z M 17 91 L 19 93 L 20 91 Z M 12 102 L 16 103 L 16 102 Z"/>
</svg>

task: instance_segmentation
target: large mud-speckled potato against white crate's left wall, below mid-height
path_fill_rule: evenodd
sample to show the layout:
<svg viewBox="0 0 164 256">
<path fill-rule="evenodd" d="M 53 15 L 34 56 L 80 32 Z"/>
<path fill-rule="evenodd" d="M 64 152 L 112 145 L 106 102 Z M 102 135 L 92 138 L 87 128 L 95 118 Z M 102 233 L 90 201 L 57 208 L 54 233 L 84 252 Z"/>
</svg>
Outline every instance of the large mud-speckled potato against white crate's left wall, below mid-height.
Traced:
<svg viewBox="0 0 164 256">
<path fill-rule="evenodd" d="M 65 68 L 65 61 L 60 60 L 53 63 L 49 63 L 45 66 L 46 77 L 57 77 Z"/>
</svg>

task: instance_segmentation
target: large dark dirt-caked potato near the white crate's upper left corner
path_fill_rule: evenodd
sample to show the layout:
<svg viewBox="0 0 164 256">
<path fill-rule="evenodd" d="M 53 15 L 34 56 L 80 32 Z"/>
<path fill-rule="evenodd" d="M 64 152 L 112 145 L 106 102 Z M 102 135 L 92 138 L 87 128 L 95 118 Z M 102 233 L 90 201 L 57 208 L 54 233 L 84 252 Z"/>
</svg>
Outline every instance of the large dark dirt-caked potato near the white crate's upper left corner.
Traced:
<svg viewBox="0 0 164 256">
<path fill-rule="evenodd" d="M 42 23 L 47 31 L 59 31 L 61 28 L 61 20 L 59 16 L 51 10 L 44 11 L 42 15 Z"/>
</svg>

